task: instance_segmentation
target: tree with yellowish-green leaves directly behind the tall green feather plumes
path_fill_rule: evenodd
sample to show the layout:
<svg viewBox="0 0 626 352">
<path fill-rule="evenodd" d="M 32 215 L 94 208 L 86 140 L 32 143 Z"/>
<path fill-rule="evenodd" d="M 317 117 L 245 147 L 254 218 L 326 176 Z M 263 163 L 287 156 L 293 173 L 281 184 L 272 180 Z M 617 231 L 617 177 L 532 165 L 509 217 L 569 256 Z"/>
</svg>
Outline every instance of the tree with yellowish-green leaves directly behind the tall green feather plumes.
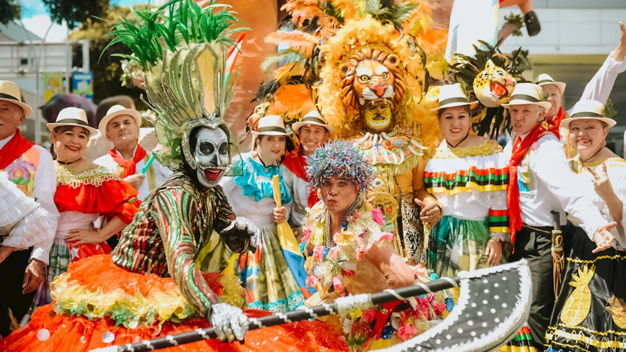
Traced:
<svg viewBox="0 0 626 352">
<path fill-rule="evenodd" d="M 145 5 L 141 5 L 145 8 Z M 82 39 L 89 40 L 89 59 L 90 70 L 93 71 L 93 100 L 99 103 L 101 100 L 114 95 L 129 95 L 135 100 L 138 110 L 145 110 L 146 105 L 140 100 L 143 90 L 135 86 L 121 86 L 120 77 L 122 76 L 121 58 L 104 54 L 100 57 L 103 49 L 111 42 L 112 36 L 105 36 L 109 33 L 114 23 L 121 21 L 123 16 L 130 15 L 130 8 L 125 6 L 113 6 L 107 9 L 102 19 L 88 18 L 80 25 L 80 28 L 74 29 L 69 34 L 71 41 Z M 113 44 L 109 53 L 131 54 L 130 49 L 122 43 Z M 75 67 L 83 66 L 83 51 L 80 44 L 74 45 L 72 65 Z"/>
</svg>

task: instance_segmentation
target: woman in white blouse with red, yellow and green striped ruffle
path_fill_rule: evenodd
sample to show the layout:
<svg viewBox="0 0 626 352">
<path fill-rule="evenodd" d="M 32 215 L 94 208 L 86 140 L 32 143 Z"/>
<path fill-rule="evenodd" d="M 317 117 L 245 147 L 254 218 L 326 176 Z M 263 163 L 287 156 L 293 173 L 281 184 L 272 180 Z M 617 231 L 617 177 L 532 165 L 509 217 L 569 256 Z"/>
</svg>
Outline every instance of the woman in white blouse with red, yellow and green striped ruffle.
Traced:
<svg viewBox="0 0 626 352">
<path fill-rule="evenodd" d="M 424 185 L 443 205 L 431 230 L 428 267 L 454 276 L 500 264 L 510 241 L 508 162 L 495 140 L 471 133 L 468 98 L 458 83 L 441 87 L 438 112 L 444 139 L 424 170 Z"/>
</svg>

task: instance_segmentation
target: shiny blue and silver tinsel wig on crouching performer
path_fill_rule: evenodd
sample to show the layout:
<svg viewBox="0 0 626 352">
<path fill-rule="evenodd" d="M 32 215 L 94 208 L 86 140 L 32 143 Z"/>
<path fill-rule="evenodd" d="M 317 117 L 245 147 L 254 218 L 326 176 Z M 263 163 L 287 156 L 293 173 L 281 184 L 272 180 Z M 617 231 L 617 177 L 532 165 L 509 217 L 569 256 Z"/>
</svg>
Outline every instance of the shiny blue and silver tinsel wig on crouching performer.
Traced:
<svg viewBox="0 0 626 352">
<path fill-rule="evenodd" d="M 317 148 L 307 167 L 312 189 L 319 189 L 332 176 L 353 180 L 359 192 L 366 192 L 374 181 L 374 168 L 354 145 L 335 140 Z"/>
</svg>

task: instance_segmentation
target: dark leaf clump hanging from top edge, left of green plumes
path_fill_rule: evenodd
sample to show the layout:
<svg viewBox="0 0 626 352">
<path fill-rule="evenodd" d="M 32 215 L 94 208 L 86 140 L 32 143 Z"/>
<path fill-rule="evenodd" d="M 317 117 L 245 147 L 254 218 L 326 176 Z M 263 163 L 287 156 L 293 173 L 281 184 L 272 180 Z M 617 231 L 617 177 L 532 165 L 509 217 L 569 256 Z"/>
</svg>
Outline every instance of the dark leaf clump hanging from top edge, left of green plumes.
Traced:
<svg viewBox="0 0 626 352">
<path fill-rule="evenodd" d="M 109 0 L 43 0 L 43 3 L 52 21 L 58 24 L 65 21 L 69 29 L 85 23 L 92 16 L 104 16 L 109 9 Z"/>
</svg>

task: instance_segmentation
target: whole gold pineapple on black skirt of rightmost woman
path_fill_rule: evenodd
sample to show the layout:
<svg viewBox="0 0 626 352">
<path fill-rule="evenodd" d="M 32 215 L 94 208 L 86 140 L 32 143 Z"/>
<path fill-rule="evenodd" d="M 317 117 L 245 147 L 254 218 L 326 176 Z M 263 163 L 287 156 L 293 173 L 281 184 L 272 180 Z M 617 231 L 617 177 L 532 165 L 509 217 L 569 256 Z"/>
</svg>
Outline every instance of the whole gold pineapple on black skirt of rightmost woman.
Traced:
<svg viewBox="0 0 626 352">
<path fill-rule="evenodd" d="M 591 308 L 591 291 L 589 282 L 595 273 L 595 266 L 592 264 L 591 269 L 585 264 L 582 269 L 578 267 L 578 276 L 572 273 L 572 281 L 570 286 L 575 287 L 563 306 L 561 312 L 561 321 L 567 325 L 578 325 L 582 323 L 589 309 Z"/>
</svg>

